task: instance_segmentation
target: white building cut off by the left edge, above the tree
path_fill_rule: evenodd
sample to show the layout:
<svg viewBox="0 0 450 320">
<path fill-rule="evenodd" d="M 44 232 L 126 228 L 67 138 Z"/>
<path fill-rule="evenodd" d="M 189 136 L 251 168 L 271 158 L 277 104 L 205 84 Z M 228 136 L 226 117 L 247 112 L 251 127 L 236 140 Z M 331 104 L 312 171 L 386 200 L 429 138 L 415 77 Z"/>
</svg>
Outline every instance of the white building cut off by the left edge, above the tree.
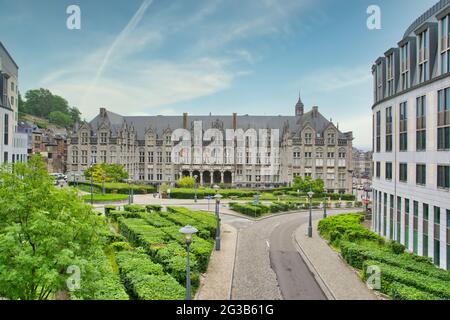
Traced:
<svg viewBox="0 0 450 320">
<path fill-rule="evenodd" d="M 19 67 L 0 42 L 0 164 L 24 162 L 28 137 L 17 132 Z"/>
</svg>

